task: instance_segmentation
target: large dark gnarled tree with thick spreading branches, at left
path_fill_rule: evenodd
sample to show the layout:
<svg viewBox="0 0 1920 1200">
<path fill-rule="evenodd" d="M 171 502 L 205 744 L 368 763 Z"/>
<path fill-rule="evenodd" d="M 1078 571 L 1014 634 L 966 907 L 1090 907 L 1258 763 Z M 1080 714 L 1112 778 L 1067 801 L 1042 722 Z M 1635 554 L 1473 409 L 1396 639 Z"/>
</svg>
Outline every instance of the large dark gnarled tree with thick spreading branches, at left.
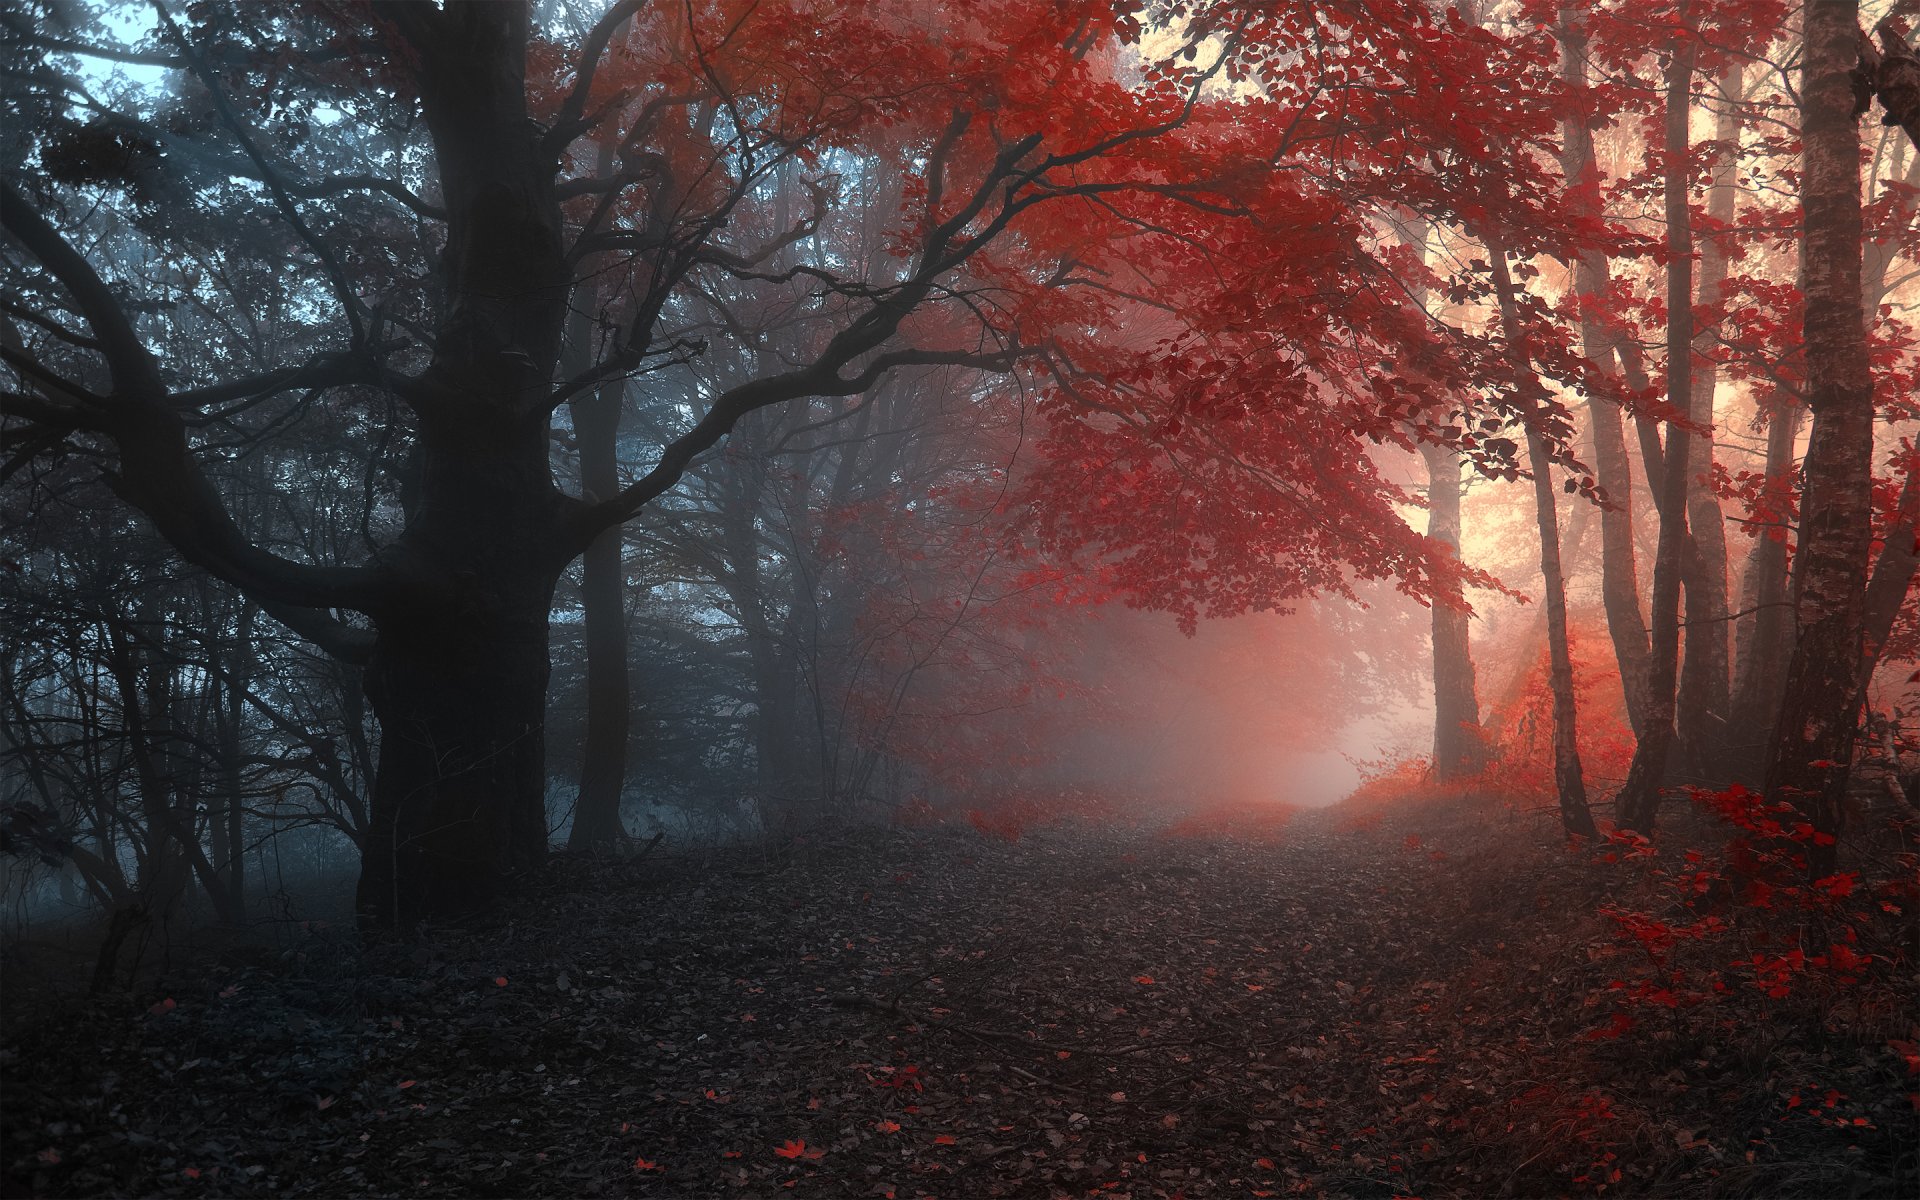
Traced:
<svg viewBox="0 0 1920 1200">
<path fill-rule="evenodd" d="M 785 8 L 641 10 L 636 0 L 611 6 L 566 56 L 534 35 L 526 4 L 321 8 L 298 27 L 252 12 L 202 12 L 209 25 L 190 29 L 161 15 L 163 48 L 138 58 L 192 79 L 219 136 L 202 138 L 200 161 L 159 150 L 154 159 L 252 180 L 271 200 L 305 259 L 309 303 L 330 309 L 328 344 L 303 363 L 198 386 L 180 378 L 127 303 L 129 275 L 79 248 L 81 221 L 61 228 L 61 190 L 44 180 L 0 190 L 0 223 L 38 269 L 38 315 L 75 351 L 52 361 L 6 351 L 27 384 L 8 396 L 8 417 L 29 440 L 52 436 L 48 449 L 65 440 L 111 447 L 115 492 L 177 553 L 365 664 L 380 762 L 359 906 L 374 925 L 468 912 L 540 862 L 547 618 L 572 559 L 660 497 L 753 411 L 858 394 L 914 363 L 1010 367 L 1020 355 L 1010 328 L 995 330 L 998 342 L 975 323 L 972 336 L 916 344 L 914 334 L 964 323 L 910 324 L 941 307 L 966 315 L 962 276 L 1027 225 L 1029 209 L 1091 196 L 1112 204 L 1129 188 L 1164 204 L 1187 196 L 1148 150 L 1187 123 L 1196 71 L 1165 67 L 1156 88 L 1137 90 L 1100 69 L 1091 50 L 1129 29 L 1106 6 L 1008 12 L 943 46 L 887 6 L 845 6 L 826 29 L 818 13 Z M 634 19 L 647 21 L 645 36 L 614 52 L 614 35 Z M 265 50 L 282 42 L 286 54 Z M 858 92 L 847 90 L 851 79 L 862 81 Z M 313 179 L 294 169 L 259 131 L 280 94 L 305 115 L 346 104 L 401 142 L 417 104 L 426 144 L 411 150 L 428 156 L 430 171 L 413 182 L 432 198 L 376 171 Z M 131 146 L 167 144 L 134 115 L 115 121 L 113 136 Z M 616 129 L 605 136 L 620 150 L 601 177 L 582 167 L 574 144 L 609 121 Z M 791 278 L 814 288 L 810 303 L 829 330 L 803 359 L 716 396 L 614 495 L 561 493 L 549 465 L 555 407 L 695 353 L 697 338 L 668 319 L 672 298 L 701 278 L 780 286 L 762 271 L 768 246 L 730 238 L 730 221 L 755 205 L 780 163 L 831 161 L 870 136 L 918 163 L 899 269 L 860 280 L 831 263 L 797 265 Z M 386 165 L 405 163 L 394 154 Z M 363 294 L 380 282 L 369 269 L 378 252 L 344 244 L 330 207 L 359 194 L 444 227 L 430 238 L 430 282 L 396 271 L 392 290 Z M 198 202 L 175 192 L 171 204 Z M 603 213 L 616 221 L 603 225 Z M 1031 257 L 995 269 L 998 282 L 1033 288 L 1058 273 L 1056 259 L 1027 246 Z M 630 265 L 632 319 L 611 330 L 597 363 L 557 378 L 591 253 Z M 48 317 L 67 305 L 84 334 Z M 104 388 L 61 369 L 81 359 L 104 367 Z M 286 388 L 359 388 L 397 401 L 405 465 L 369 468 L 397 470 L 401 528 L 365 561 L 303 561 L 250 540 L 202 465 L 182 415 Z"/>
</svg>

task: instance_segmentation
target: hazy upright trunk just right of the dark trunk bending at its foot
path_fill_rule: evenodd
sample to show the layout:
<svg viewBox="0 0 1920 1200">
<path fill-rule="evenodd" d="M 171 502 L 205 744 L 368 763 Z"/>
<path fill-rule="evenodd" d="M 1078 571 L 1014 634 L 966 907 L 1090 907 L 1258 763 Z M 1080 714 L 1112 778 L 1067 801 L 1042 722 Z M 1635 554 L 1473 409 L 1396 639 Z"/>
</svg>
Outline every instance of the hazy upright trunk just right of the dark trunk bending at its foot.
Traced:
<svg viewBox="0 0 1920 1200">
<path fill-rule="evenodd" d="M 1720 113 L 1715 123 L 1713 186 L 1707 192 L 1707 232 L 1699 248 L 1699 305 L 1720 305 L 1726 284 L 1728 236 L 1738 198 L 1740 113 L 1745 75 L 1730 67 L 1720 79 Z M 1688 472 L 1688 551 L 1682 584 L 1686 588 L 1686 662 L 1680 668 L 1676 737 L 1682 760 L 1703 780 L 1718 778 L 1720 747 L 1726 743 L 1732 710 L 1732 612 L 1726 588 L 1726 518 L 1713 490 L 1715 411 L 1720 382 L 1718 323 L 1693 330 L 1693 403 L 1690 415 L 1707 430 L 1693 445 L 1697 468 Z"/>
</svg>

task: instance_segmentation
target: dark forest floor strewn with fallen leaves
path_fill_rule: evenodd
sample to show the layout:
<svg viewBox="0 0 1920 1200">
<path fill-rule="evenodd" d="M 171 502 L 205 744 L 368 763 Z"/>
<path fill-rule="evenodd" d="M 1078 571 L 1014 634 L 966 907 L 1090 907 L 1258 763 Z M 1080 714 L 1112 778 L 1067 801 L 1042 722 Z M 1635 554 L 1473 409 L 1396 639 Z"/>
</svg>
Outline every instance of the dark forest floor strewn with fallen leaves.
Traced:
<svg viewBox="0 0 1920 1200">
<path fill-rule="evenodd" d="M 15 1014 L 4 1194 L 1916 1194 L 1912 993 L 1609 1033 L 1630 868 L 1469 801 L 561 860 Z"/>
</svg>

